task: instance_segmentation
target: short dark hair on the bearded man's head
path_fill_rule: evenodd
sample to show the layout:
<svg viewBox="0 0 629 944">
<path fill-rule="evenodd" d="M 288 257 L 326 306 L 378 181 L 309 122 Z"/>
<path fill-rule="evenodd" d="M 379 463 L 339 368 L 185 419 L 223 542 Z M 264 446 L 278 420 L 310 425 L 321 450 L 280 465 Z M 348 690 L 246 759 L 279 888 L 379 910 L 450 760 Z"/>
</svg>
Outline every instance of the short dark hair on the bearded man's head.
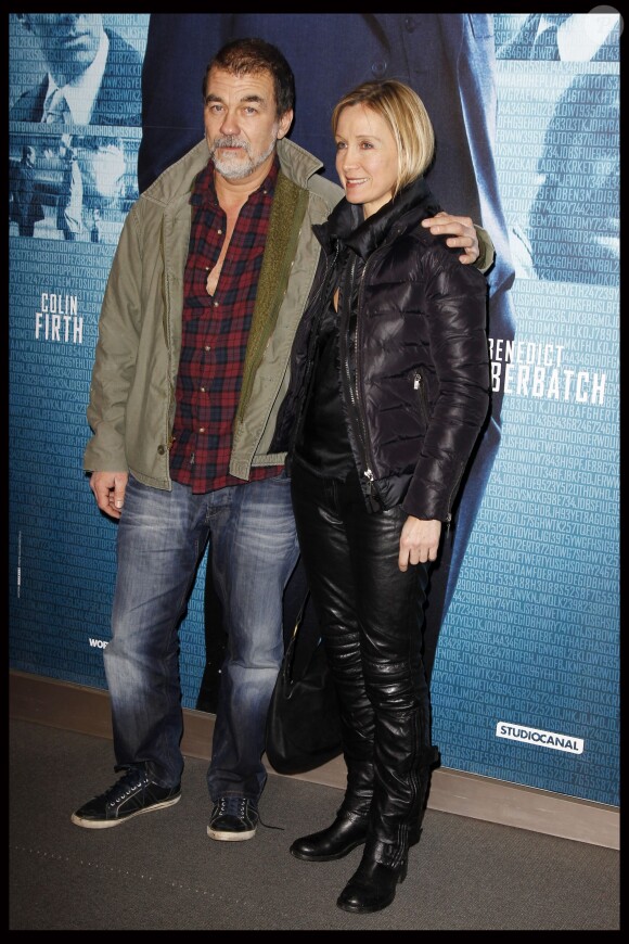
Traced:
<svg viewBox="0 0 629 944">
<path fill-rule="evenodd" d="M 273 78 L 278 118 L 295 106 L 295 76 L 277 46 L 264 39 L 234 39 L 219 49 L 208 63 L 203 77 L 202 94 L 205 101 L 209 71 L 222 68 L 232 75 L 249 75 L 268 72 Z"/>
</svg>

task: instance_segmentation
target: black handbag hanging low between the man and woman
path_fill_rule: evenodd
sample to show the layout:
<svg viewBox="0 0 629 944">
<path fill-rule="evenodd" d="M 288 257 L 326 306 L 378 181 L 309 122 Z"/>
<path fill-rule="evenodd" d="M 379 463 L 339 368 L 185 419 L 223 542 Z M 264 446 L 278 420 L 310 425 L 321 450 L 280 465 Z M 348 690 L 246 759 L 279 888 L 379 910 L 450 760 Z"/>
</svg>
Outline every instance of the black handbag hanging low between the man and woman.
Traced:
<svg viewBox="0 0 629 944">
<path fill-rule="evenodd" d="M 295 621 L 267 715 L 267 758 L 278 774 L 313 770 L 343 752 L 336 691 L 319 637 L 312 651 L 297 650 L 303 637 L 308 596 Z M 312 642 L 310 642 L 312 646 Z M 303 667 L 297 677 L 295 663 Z"/>
</svg>

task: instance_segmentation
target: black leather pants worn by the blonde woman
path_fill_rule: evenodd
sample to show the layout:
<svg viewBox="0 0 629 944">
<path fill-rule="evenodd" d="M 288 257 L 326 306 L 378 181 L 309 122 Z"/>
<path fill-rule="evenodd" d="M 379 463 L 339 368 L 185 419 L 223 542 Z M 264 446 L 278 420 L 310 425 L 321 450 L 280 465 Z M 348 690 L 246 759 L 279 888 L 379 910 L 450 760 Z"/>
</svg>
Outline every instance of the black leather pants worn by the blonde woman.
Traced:
<svg viewBox="0 0 629 944">
<path fill-rule="evenodd" d="M 369 839 L 395 866 L 418 830 L 435 755 L 421 654 L 428 565 L 399 570 L 407 514 L 400 507 L 369 513 L 357 475 L 341 483 L 295 462 L 292 495 L 339 699 L 344 807 L 369 808 Z"/>
</svg>

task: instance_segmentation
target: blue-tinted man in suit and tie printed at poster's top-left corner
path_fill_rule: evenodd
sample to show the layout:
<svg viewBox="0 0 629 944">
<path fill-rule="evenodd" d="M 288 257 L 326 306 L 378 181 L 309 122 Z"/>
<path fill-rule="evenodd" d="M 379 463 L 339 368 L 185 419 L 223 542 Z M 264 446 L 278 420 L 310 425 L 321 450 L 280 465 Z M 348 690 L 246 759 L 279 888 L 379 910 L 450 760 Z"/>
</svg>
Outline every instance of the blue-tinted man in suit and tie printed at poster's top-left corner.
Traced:
<svg viewBox="0 0 629 944">
<path fill-rule="evenodd" d="M 102 13 L 17 13 L 48 69 L 9 112 L 12 122 L 140 125 L 142 58 Z"/>
</svg>

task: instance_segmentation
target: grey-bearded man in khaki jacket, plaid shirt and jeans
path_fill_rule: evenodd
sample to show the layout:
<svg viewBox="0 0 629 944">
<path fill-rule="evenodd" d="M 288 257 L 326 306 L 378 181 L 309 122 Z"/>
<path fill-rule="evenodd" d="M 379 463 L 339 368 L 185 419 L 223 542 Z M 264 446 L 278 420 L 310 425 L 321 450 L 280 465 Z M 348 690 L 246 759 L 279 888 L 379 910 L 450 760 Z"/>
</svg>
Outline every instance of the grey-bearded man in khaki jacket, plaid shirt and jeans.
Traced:
<svg viewBox="0 0 629 944">
<path fill-rule="evenodd" d="M 294 77 L 275 47 L 228 43 L 203 92 L 205 140 L 131 208 L 99 322 L 85 468 L 119 519 L 104 662 L 125 773 L 72 819 L 102 829 L 180 798 L 177 629 L 211 535 L 228 653 L 207 831 L 241 841 L 267 779 L 282 595 L 299 553 L 285 456 L 270 444 L 319 259 L 312 225 L 343 191 L 286 139 Z M 463 233 L 463 261 L 477 257 L 473 228 L 439 222 Z"/>
</svg>

